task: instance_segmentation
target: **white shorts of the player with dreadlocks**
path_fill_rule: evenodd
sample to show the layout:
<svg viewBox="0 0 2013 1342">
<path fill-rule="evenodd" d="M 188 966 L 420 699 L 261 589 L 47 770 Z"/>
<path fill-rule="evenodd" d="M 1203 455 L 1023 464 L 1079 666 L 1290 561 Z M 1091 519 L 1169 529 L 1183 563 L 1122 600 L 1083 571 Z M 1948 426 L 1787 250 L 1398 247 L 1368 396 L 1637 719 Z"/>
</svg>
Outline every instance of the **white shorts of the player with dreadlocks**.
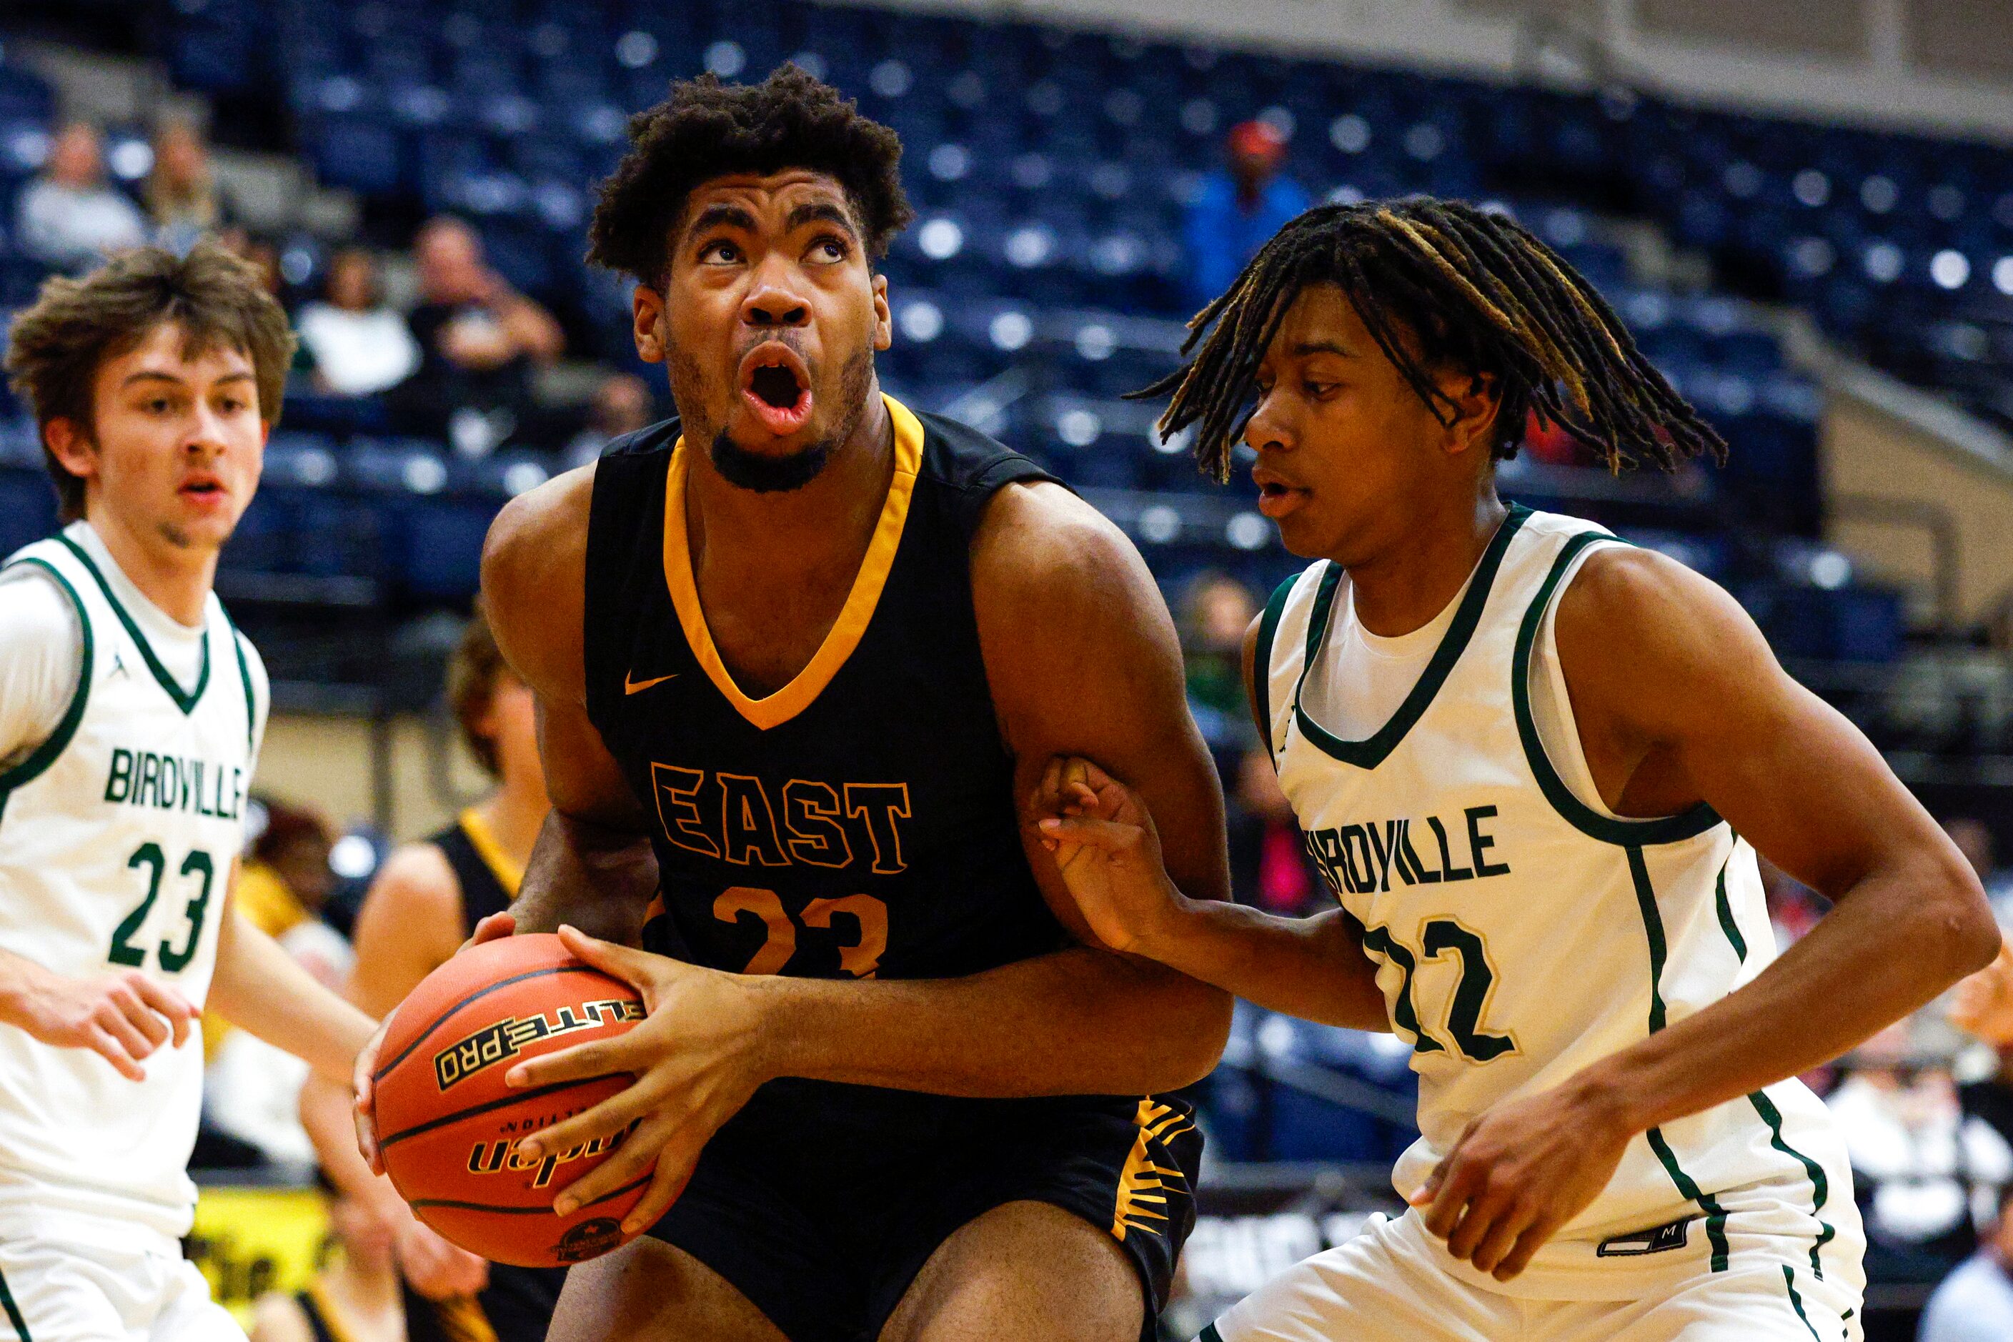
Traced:
<svg viewBox="0 0 2013 1342">
<path fill-rule="evenodd" d="M 1701 1272 L 1643 1300 L 1524 1300 L 1457 1282 L 1417 1213 L 1286 1270 L 1198 1342 L 1862 1342 L 1860 1292 L 1786 1264 Z"/>
</svg>

